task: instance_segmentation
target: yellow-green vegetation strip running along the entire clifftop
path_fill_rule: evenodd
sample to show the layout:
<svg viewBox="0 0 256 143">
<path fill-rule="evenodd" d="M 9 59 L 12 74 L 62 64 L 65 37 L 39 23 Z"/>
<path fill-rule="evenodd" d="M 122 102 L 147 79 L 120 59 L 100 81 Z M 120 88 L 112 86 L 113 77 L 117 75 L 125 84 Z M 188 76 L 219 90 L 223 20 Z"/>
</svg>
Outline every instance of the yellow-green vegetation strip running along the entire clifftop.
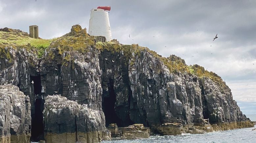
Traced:
<svg viewBox="0 0 256 143">
<path fill-rule="evenodd" d="M 85 53 L 88 52 L 88 48 L 94 47 L 98 51 L 111 51 L 111 52 L 122 52 L 126 57 L 126 64 L 130 64 L 130 66 L 135 64 L 134 59 L 132 58 L 132 54 L 134 56 L 141 55 L 141 52 L 149 52 L 154 57 L 160 59 L 163 64 L 169 69 L 170 73 L 178 74 L 188 73 L 195 74 L 200 77 L 209 77 L 220 87 L 226 87 L 225 82 L 214 72 L 209 72 L 205 70 L 203 67 L 198 65 L 187 66 L 184 59 L 177 57 L 175 55 L 170 55 L 169 57 L 162 57 L 157 54 L 155 51 L 149 50 L 147 47 L 141 47 L 138 44 L 132 45 L 123 45 L 119 44 L 118 41 L 112 40 L 110 42 L 100 42 L 96 40 L 100 36 L 90 36 L 86 29 L 82 29 L 80 25 L 74 25 L 71 28 L 71 31 L 61 37 L 55 39 L 34 39 L 30 38 L 28 33 L 22 32 L 20 30 L 8 29 L 9 32 L 0 31 L 0 53 L 4 54 L 5 57 L 11 62 L 12 56 L 9 52 L 5 52 L 5 47 L 12 46 L 14 49 L 16 48 L 24 48 L 28 51 L 31 51 L 33 47 L 37 51 L 38 58 L 41 58 L 44 54 L 45 50 L 48 52 L 47 57 L 49 59 L 53 59 L 55 56 L 54 51 L 57 51 L 58 54 L 63 55 L 64 51 L 75 51 Z M 54 49 L 54 50 L 51 50 Z M 34 51 L 34 50 L 32 50 Z M 35 53 L 35 51 L 34 51 Z M 71 55 L 66 54 L 64 57 L 64 62 L 70 61 Z"/>
</svg>

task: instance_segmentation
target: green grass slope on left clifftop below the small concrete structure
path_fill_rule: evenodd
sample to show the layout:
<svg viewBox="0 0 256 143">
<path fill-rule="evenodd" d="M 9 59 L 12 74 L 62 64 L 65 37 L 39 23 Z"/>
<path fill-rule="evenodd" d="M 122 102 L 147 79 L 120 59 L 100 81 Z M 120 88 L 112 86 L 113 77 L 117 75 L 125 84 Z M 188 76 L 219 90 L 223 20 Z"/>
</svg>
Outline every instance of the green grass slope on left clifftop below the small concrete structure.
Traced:
<svg viewBox="0 0 256 143">
<path fill-rule="evenodd" d="M 30 43 L 38 52 L 38 58 L 42 57 L 44 50 L 50 45 L 53 39 L 35 39 L 29 37 L 26 32 L 5 32 L 0 31 L 0 46 L 12 46 L 17 48 Z M 4 48 L 4 47 L 3 47 Z"/>
</svg>

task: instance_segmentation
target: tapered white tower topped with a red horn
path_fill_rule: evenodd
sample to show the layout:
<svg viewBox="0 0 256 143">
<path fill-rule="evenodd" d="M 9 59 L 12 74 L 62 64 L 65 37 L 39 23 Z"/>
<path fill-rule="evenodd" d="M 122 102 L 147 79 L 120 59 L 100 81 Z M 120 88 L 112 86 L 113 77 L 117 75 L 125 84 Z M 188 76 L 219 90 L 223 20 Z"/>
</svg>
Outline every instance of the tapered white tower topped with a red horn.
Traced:
<svg viewBox="0 0 256 143">
<path fill-rule="evenodd" d="M 89 31 L 92 36 L 105 36 L 107 41 L 112 39 L 109 14 L 110 6 L 97 7 L 90 13 Z"/>
</svg>

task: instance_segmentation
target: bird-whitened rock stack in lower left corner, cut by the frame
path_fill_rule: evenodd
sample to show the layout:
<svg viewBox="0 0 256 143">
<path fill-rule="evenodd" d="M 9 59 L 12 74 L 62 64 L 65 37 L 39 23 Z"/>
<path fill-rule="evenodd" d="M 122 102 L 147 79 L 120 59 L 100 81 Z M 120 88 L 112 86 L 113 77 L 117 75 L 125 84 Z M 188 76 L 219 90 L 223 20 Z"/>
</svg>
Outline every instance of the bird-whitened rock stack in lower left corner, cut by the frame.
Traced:
<svg viewBox="0 0 256 143">
<path fill-rule="evenodd" d="M 31 114 L 29 97 L 12 85 L 0 86 L 0 142 L 29 142 Z"/>
</svg>

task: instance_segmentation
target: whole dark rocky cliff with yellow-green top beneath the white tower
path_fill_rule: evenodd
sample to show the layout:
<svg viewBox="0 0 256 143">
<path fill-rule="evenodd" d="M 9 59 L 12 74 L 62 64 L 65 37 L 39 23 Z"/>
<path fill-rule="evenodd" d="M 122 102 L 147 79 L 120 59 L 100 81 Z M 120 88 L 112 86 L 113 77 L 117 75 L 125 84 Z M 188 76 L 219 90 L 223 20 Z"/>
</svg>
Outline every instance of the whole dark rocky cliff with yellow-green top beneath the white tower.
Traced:
<svg viewBox="0 0 256 143">
<path fill-rule="evenodd" d="M 88 142 L 96 142 L 111 123 L 119 127 L 143 124 L 161 132 L 157 128 L 165 123 L 189 129 L 208 118 L 219 125 L 249 121 L 217 74 L 188 66 L 175 55 L 165 58 L 136 44 L 106 42 L 105 37 L 90 36 L 79 25 L 46 41 L 52 41 L 46 47 L 35 44 L 41 39 L 35 42 L 22 31 L 5 29 L 0 35 L 5 35 L 0 41 L 0 84 L 13 84 L 29 96 L 32 141 L 52 140 L 53 134 L 60 138 L 63 133 L 78 141 L 75 134 L 93 132 L 94 139 Z M 10 42 L 6 38 L 11 35 L 34 43 Z M 66 98 L 48 96 L 54 94 Z M 68 103 L 60 104 L 62 100 Z M 90 110 L 93 115 L 85 115 Z M 70 121 L 64 120 L 66 116 Z M 96 121 L 78 124 L 80 117 Z M 80 126 L 88 128 L 79 130 Z"/>
</svg>

